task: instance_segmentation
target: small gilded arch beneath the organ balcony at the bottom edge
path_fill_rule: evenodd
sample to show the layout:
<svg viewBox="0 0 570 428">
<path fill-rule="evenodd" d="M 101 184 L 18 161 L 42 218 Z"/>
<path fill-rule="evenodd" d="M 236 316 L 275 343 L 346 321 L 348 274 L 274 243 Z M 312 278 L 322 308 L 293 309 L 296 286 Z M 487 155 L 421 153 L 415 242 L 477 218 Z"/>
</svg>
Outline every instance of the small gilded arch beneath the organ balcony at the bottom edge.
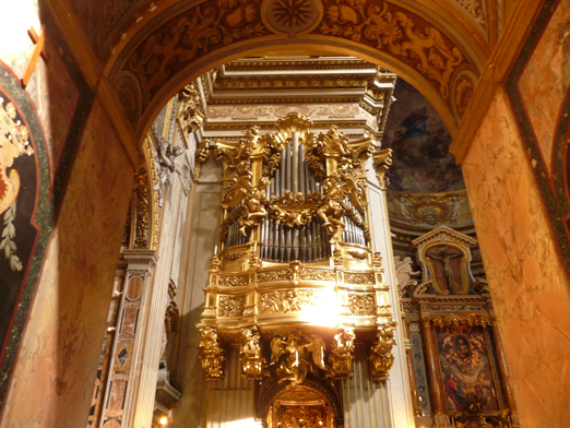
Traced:
<svg viewBox="0 0 570 428">
<path fill-rule="evenodd" d="M 335 427 L 344 427 L 344 413 L 342 403 L 332 388 L 328 387 L 323 381 L 310 377 L 305 379 L 300 387 L 313 390 L 319 395 L 321 395 L 332 408 L 332 412 L 334 414 Z M 257 406 L 256 417 L 261 418 L 263 420 L 263 427 L 265 427 L 266 418 L 273 404 L 273 401 L 276 397 L 278 397 L 278 395 L 286 392 L 287 390 L 290 390 L 293 387 L 288 381 L 283 383 L 276 382 L 272 387 L 270 387 L 265 391 L 265 393 L 260 397 L 259 405 Z"/>
</svg>

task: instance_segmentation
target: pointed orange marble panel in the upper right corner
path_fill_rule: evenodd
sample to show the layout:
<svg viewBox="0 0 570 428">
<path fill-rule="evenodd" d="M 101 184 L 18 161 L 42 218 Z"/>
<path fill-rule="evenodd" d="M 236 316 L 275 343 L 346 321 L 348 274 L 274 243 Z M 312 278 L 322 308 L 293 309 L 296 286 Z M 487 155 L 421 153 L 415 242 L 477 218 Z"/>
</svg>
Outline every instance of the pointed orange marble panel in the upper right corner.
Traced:
<svg viewBox="0 0 570 428">
<path fill-rule="evenodd" d="M 519 80 L 524 108 L 550 176 L 556 120 L 570 86 L 568 16 L 570 16 L 570 0 L 561 0 Z"/>
</svg>

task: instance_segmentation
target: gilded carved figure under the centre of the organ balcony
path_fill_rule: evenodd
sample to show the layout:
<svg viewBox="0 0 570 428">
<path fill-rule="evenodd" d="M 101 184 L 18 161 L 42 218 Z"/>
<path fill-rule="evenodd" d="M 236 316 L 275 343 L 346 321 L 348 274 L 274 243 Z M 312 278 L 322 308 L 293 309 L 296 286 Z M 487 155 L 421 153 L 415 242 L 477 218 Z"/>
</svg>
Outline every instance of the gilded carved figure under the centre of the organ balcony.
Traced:
<svg viewBox="0 0 570 428">
<path fill-rule="evenodd" d="M 317 368 L 326 371 L 324 366 L 325 345 L 322 338 L 312 334 L 307 336 L 294 332 L 286 337 L 276 335 L 271 341 L 272 364 L 277 365 L 280 383 L 289 380 L 293 385 L 305 381 L 309 372 Z"/>
</svg>

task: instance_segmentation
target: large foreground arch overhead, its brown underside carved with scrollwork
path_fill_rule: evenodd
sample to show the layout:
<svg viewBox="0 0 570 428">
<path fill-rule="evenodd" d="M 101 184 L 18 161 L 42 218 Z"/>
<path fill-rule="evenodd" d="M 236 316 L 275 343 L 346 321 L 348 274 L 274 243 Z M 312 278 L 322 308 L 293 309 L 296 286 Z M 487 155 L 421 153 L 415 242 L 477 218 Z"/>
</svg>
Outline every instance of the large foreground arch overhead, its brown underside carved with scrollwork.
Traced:
<svg viewBox="0 0 570 428">
<path fill-rule="evenodd" d="M 435 12 L 428 16 L 409 5 L 306 2 L 312 4 L 313 22 L 289 34 L 272 17 L 272 0 L 233 7 L 205 0 L 165 9 L 135 26 L 106 73 L 138 138 L 167 99 L 205 71 L 245 56 L 293 52 L 351 55 L 388 68 L 418 88 L 455 135 L 484 63 L 468 36 L 443 27 Z"/>
</svg>

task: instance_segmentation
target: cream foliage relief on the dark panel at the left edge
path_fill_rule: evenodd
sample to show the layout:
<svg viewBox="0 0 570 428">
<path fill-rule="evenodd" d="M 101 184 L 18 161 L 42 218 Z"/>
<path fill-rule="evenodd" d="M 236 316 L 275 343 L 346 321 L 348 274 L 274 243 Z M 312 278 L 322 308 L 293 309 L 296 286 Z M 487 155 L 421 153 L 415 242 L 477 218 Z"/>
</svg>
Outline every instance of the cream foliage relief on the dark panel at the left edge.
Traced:
<svg viewBox="0 0 570 428">
<path fill-rule="evenodd" d="M 27 127 L 17 118 L 14 105 L 0 98 L 0 215 L 3 215 L 0 251 L 13 272 L 23 268 L 14 241 L 21 178 L 13 166 L 20 156 L 32 154 L 34 148 L 28 141 Z"/>
</svg>

